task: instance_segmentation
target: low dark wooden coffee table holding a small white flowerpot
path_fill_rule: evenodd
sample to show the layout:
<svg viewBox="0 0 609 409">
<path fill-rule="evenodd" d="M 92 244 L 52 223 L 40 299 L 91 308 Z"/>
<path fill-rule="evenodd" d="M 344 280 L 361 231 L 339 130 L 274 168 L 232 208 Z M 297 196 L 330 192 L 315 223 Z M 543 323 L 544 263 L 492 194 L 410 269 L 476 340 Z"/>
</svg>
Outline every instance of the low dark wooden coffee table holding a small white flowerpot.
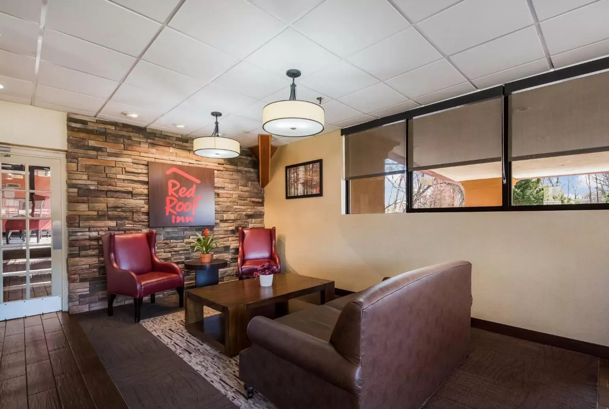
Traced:
<svg viewBox="0 0 609 409">
<path fill-rule="evenodd" d="M 256 315 L 256 308 L 286 303 L 314 292 L 320 292 L 322 304 L 333 300 L 334 281 L 284 273 L 275 274 L 270 287 L 261 287 L 259 280 L 250 278 L 186 290 L 186 329 L 203 342 L 233 356 L 250 345 L 247 324 Z M 203 306 L 221 314 L 203 318 Z"/>
</svg>

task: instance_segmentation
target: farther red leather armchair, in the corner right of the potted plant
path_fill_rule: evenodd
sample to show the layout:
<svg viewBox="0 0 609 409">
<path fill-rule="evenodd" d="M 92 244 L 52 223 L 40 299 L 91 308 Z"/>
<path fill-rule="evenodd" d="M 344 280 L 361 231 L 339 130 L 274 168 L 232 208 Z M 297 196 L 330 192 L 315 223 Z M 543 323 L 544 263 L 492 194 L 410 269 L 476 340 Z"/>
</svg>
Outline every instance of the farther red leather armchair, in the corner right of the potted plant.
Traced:
<svg viewBox="0 0 609 409">
<path fill-rule="evenodd" d="M 253 277 L 258 266 L 267 261 L 281 271 L 281 259 L 275 246 L 275 227 L 272 229 L 239 227 L 239 255 L 237 258 L 239 280 Z"/>
</svg>

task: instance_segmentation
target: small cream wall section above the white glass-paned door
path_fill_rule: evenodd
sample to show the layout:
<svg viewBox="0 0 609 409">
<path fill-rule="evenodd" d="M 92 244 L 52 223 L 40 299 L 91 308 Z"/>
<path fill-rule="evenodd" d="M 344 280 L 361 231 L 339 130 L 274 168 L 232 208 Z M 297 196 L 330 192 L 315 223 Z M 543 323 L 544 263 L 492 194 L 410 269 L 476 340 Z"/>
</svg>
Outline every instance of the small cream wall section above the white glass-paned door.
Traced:
<svg viewBox="0 0 609 409">
<path fill-rule="evenodd" d="M 68 149 L 66 113 L 0 101 L 0 143 Z"/>
</svg>

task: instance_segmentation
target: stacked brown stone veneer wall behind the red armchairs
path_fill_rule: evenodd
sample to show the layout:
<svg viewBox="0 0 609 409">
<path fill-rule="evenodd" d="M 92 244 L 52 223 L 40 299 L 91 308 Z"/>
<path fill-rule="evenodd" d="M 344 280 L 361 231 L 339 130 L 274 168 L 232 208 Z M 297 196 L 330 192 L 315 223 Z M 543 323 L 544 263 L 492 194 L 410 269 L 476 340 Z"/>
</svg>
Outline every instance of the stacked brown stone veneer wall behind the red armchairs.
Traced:
<svg viewBox="0 0 609 409">
<path fill-rule="evenodd" d="M 235 275 L 238 227 L 264 227 L 264 194 L 258 165 L 248 148 L 234 159 L 206 159 L 192 153 L 192 139 L 124 123 L 68 114 L 68 281 L 69 312 L 107 306 L 104 255 L 106 232 L 144 232 L 148 227 L 148 162 L 216 170 L 214 256 L 230 263 L 220 280 Z M 157 230 L 157 255 L 183 267 L 197 258 L 189 241 L 202 227 Z M 186 285 L 194 272 L 185 271 Z M 117 297 L 115 304 L 132 301 Z"/>
</svg>

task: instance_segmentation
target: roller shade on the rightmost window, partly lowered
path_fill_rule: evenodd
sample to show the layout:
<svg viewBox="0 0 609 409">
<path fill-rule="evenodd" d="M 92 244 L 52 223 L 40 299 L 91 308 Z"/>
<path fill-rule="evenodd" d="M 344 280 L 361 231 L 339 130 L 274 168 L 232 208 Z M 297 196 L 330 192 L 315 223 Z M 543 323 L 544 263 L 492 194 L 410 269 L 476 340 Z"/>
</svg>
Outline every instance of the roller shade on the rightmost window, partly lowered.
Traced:
<svg viewBox="0 0 609 409">
<path fill-rule="evenodd" d="M 609 150 L 609 72 L 510 95 L 511 160 Z"/>
</svg>

